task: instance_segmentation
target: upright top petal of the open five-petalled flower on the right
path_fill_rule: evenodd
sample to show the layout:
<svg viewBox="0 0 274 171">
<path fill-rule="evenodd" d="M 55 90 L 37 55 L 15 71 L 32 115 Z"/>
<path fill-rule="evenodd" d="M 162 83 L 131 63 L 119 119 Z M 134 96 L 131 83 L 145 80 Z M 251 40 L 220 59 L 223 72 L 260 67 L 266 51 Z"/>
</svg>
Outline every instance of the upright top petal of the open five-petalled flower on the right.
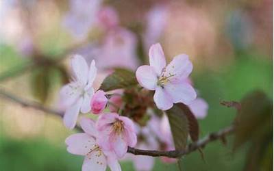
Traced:
<svg viewBox="0 0 274 171">
<path fill-rule="evenodd" d="M 155 69 L 158 76 L 162 74 L 162 70 L 166 66 L 166 59 L 159 43 L 153 44 L 149 49 L 149 64 Z"/>
</svg>

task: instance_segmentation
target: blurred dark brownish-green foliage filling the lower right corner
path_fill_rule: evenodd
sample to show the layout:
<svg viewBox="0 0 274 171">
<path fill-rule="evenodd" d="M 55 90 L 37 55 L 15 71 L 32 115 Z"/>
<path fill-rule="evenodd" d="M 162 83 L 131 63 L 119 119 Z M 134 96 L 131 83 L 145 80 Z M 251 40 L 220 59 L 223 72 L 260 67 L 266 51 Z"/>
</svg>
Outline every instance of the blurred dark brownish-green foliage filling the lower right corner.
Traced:
<svg viewBox="0 0 274 171">
<path fill-rule="evenodd" d="M 234 149 L 251 142 L 245 170 L 272 170 L 273 101 L 264 92 L 245 96 L 235 120 Z"/>
</svg>

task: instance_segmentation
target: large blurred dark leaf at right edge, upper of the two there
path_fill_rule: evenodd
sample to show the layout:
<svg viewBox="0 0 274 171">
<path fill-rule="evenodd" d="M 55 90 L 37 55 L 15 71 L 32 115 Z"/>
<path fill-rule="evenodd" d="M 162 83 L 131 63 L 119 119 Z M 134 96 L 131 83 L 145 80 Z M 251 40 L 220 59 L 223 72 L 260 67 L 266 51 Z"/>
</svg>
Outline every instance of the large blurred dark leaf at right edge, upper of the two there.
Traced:
<svg viewBox="0 0 274 171">
<path fill-rule="evenodd" d="M 256 91 L 245 96 L 235 120 L 234 149 L 248 140 L 257 141 L 269 135 L 273 127 L 273 102 Z"/>
</svg>

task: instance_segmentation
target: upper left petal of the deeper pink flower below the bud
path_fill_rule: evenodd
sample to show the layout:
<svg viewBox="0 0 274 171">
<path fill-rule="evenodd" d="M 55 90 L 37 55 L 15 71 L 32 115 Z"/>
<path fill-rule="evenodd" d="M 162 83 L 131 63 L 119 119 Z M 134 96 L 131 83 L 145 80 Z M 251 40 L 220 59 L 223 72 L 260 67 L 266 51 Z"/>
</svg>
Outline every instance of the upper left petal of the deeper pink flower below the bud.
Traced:
<svg viewBox="0 0 274 171">
<path fill-rule="evenodd" d="M 97 130 L 103 131 L 106 127 L 109 127 L 110 124 L 115 122 L 116 118 L 119 118 L 119 115 L 116 113 L 102 114 L 96 122 Z"/>
</svg>

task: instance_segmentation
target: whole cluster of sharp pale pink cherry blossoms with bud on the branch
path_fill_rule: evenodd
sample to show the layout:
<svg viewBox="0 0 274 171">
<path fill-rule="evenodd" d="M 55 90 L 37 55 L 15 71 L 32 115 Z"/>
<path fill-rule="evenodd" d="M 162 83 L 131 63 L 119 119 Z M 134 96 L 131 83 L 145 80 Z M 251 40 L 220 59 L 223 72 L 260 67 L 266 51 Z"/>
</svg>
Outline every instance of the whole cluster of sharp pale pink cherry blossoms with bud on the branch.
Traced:
<svg viewBox="0 0 274 171">
<path fill-rule="evenodd" d="M 149 49 L 149 66 L 140 66 L 136 70 L 136 79 L 145 90 L 155 90 L 153 101 L 162 111 L 173 107 L 174 103 L 184 103 L 197 118 L 206 116 L 208 105 L 197 98 L 188 78 L 192 63 L 187 55 L 177 55 L 166 66 L 164 52 L 160 44 L 153 44 Z M 64 125 L 73 129 L 79 113 L 91 112 L 97 118 L 82 117 L 79 121 L 84 133 L 76 133 L 66 139 L 69 153 L 84 155 L 82 170 L 121 170 L 119 159 L 131 158 L 138 170 L 151 170 L 153 159 L 142 156 L 128 156 L 127 147 L 144 149 L 174 150 L 173 137 L 166 115 L 162 118 L 147 109 L 150 120 L 140 125 L 129 116 L 118 112 L 123 107 L 123 90 L 107 94 L 103 90 L 95 91 L 93 82 L 97 76 L 97 67 L 93 60 L 88 66 L 81 55 L 71 58 L 73 79 L 60 90 L 60 105 L 64 108 Z M 108 111 L 107 108 L 108 107 Z M 142 138 L 140 138 L 142 137 Z M 137 142 L 138 140 L 138 142 Z M 145 159 L 146 165 L 139 164 Z M 175 159 L 162 157 L 164 162 Z M 145 168 L 144 168 L 145 167 Z"/>
</svg>

